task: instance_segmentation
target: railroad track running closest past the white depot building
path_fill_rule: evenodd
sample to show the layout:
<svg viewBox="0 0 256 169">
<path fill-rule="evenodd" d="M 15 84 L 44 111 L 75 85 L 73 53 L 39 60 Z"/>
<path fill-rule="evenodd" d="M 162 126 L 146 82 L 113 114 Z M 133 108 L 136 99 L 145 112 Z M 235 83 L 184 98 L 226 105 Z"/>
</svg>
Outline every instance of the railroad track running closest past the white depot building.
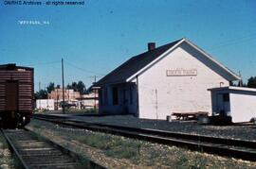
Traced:
<svg viewBox="0 0 256 169">
<path fill-rule="evenodd" d="M 149 128 L 119 127 L 87 123 L 69 118 L 40 114 L 35 115 L 33 118 L 69 127 L 85 128 L 158 144 L 172 144 L 187 147 L 196 151 L 213 153 L 247 161 L 256 161 L 256 142 L 192 135 L 188 133 L 170 132 Z"/>
</svg>

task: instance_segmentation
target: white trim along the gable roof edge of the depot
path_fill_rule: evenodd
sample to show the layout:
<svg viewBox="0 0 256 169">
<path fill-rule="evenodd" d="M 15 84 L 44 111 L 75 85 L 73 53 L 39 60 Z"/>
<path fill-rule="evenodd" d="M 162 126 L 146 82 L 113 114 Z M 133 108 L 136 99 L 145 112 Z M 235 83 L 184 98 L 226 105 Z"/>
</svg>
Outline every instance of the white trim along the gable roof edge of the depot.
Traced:
<svg viewBox="0 0 256 169">
<path fill-rule="evenodd" d="M 168 49 L 166 52 L 164 52 L 162 55 L 160 55 L 159 57 L 157 57 L 156 59 L 154 59 L 153 61 L 151 61 L 148 65 L 146 65 L 145 67 L 143 67 L 142 69 L 140 69 L 139 71 L 137 71 L 136 74 L 134 74 L 133 76 L 130 76 L 126 79 L 126 82 L 132 81 L 137 75 L 143 73 L 145 70 L 149 69 L 152 65 L 155 64 L 155 62 L 157 62 L 159 59 L 162 59 L 164 57 L 166 57 L 167 55 L 169 55 L 174 48 L 176 48 L 179 44 L 181 44 L 182 42 L 187 42 L 188 44 L 190 44 L 193 48 L 195 48 L 198 52 L 200 52 L 201 54 L 203 54 L 204 56 L 206 56 L 208 59 L 210 59 L 211 61 L 213 61 L 214 63 L 216 63 L 218 66 L 220 66 L 221 68 L 223 68 L 226 72 L 228 72 L 231 76 L 235 77 L 237 80 L 241 80 L 240 76 L 235 75 L 233 72 L 231 72 L 227 67 L 225 67 L 224 65 L 222 65 L 220 62 L 218 62 L 217 60 L 213 59 L 209 54 L 207 54 L 204 50 L 202 50 L 201 48 L 199 48 L 198 46 L 196 46 L 195 44 L 193 44 L 192 42 L 188 41 L 185 38 L 182 38 L 179 42 L 177 42 L 173 47 L 171 47 L 170 49 Z"/>
</svg>

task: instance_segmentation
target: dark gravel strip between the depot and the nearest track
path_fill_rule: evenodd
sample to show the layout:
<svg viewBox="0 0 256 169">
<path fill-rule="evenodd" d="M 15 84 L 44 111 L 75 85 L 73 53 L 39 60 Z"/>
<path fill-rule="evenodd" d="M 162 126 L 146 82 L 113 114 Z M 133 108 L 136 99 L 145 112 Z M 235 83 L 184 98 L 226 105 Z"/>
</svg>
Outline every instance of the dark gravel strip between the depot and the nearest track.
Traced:
<svg viewBox="0 0 256 169">
<path fill-rule="evenodd" d="M 125 127 L 144 127 L 168 130 L 174 132 L 185 132 L 190 134 L 209 135 L 222 138 L 249 140 L 256 142 L 256 125 L 254 126 L 203 126 L 195 121 L 174 121 L 138 119 L 132 115 L 114 115 L 114 116 L 70 116 L 73 119 L 100 123 L 108 125 L 117 125 Z"/>
</svg>

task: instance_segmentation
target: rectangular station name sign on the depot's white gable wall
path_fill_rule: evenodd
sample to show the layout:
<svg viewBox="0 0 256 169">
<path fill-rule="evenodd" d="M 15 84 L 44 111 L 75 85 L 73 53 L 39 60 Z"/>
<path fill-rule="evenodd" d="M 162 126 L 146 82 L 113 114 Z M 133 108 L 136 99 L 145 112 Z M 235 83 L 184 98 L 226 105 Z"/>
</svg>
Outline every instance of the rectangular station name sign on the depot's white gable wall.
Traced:
<svg viewBox="0 0 256 169">
<path fill-rule="evenodd" d="M 166 70 L 166 76 L 197 76 L 196 69 Z"/>
</svg>

